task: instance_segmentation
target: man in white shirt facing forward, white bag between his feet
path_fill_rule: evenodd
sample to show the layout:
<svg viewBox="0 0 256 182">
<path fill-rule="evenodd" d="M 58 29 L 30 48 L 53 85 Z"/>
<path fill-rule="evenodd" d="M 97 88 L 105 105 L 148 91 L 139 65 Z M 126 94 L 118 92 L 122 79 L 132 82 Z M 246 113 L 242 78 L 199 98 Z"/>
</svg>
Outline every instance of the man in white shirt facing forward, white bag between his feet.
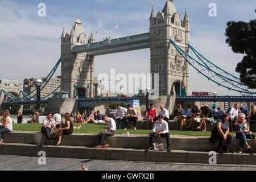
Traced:
<svg viewBox="0 0 256 182">
<path fill-rule="evenodd" d="M 158 115 L 158 121 L 154 123 L 152 132 L 149 134 L 149 143 L 150 148 L 146 151 L 153 150 L 153 137 L 155 138 L 166 138 L 167 143 L 167 152 L 171 152 L 170 150 L 170 134 L 168 129 L 168 123 L 163 120 L 162 115 Z"/>
</svg>

